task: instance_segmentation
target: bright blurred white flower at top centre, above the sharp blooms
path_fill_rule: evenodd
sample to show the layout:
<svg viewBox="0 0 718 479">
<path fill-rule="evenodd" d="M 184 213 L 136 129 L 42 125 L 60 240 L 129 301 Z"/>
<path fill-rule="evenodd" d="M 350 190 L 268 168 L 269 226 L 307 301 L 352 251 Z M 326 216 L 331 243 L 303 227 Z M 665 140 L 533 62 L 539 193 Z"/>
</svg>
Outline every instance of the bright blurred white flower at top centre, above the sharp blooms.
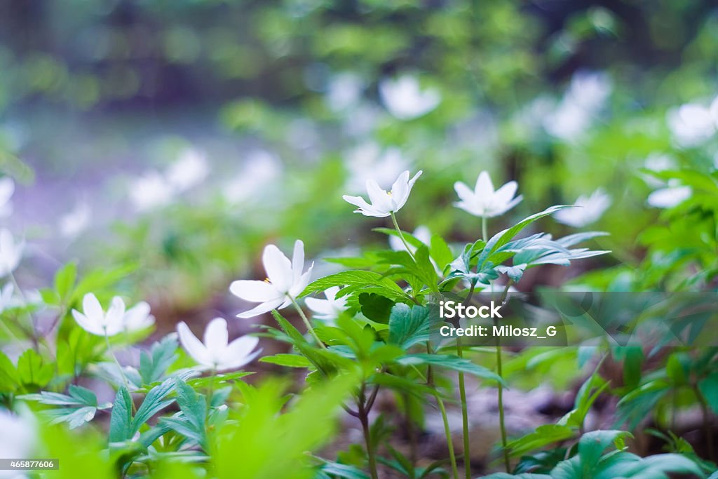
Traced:
<svg viewBox="0 0 718 479">
<path fill-rule="evenodd" d="M 423 116 L 439 106 L 442 97 L 436 88 L 421 90 L 413 75 L 385 78 L 379 83 L 379 94 L 386 109 L 400 120 Z"/>
</svg>

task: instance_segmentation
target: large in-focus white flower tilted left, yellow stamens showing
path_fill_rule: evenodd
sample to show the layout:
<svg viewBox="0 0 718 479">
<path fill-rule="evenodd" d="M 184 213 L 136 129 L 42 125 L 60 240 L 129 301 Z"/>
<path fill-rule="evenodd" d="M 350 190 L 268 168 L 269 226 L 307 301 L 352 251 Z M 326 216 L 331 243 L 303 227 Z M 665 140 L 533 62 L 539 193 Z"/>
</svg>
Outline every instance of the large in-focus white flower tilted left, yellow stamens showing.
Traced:
<svg viewBox="0 0 718 479">
<path fill-rule="evenodd" d="M 294 242 L 292 261 L 273 244 L 267 245 L 262 254 L 262 264 L 267 274 L 264 281 L 244 280 L 230 284 L 230 292 L 245 301 L 261 302 L 251 310 L 241 312 L 237 317 L 254 317 L 271 310 L 281 310 L 292 304 L 309 284 L 314 264 L 304 270 L 304 243 Z"/>
</svg>

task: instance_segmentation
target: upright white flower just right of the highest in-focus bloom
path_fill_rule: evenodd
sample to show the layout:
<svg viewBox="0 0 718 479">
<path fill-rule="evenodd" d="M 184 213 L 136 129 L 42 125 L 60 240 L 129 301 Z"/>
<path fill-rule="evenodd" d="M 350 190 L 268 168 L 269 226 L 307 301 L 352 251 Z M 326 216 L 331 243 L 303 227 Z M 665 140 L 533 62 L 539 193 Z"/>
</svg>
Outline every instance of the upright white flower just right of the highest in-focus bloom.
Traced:
<svg viewBox="0 0 718 479">
<path fill-rule="evenodd" d="M 510 181 L 494 191 L 491 177 L 488 172 L 483 171 L 480 172 L 473 191 L 463 182 L 454 183 L 454 190 L 461 200 L 454 203 L 454 206 L 482 218 L 503 215 L 523 199 L 521 195 L 513 197 L 517 187 L 515 181 Z"/>
</svg>

